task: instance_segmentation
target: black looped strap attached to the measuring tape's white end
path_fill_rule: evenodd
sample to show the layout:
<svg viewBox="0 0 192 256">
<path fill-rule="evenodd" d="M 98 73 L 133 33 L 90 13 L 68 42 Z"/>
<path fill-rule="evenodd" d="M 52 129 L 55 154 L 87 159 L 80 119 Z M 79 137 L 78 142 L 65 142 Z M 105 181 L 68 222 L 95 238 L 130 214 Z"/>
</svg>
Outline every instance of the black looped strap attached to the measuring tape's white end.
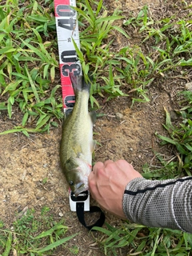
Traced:
<svg viewBox="0 0 192 256">
<path fill-rule="evenodd" d="M 83 226 L 85 226 L 88 230 L 91 230 L 94 226 L 102 226 L 105 222 L 105 214 L 102 212 L 102 210 L 98 206 L 90 206 L 90 214 L 95 212 L 100 212 L 100 218 L 98 218 L 97 222 L 94 223 L 94 225 L 86 226 L 85 218 L 84 218 L 84 202 L 77 202 L 76 203 L 76 212 L 78 216 L 79 222 L 82 223 Z"/>
</svg>

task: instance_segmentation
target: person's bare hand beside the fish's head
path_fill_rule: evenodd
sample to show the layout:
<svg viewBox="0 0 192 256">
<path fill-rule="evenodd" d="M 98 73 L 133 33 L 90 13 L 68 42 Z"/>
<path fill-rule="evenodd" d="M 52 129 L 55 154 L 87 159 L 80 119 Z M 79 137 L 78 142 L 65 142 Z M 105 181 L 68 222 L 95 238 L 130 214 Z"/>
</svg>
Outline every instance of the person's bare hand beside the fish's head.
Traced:
<svg viewBox="0 0 192 256">
<path fill-rule="evenodd" d="M 122 210 L 124 190 L 128 182 L 138 177 L 142 175 L 125 160 L 97 162 L 88 178 L 90 194 L 100 206 L 120 218 L 126 218 Z"/>
</svg>

